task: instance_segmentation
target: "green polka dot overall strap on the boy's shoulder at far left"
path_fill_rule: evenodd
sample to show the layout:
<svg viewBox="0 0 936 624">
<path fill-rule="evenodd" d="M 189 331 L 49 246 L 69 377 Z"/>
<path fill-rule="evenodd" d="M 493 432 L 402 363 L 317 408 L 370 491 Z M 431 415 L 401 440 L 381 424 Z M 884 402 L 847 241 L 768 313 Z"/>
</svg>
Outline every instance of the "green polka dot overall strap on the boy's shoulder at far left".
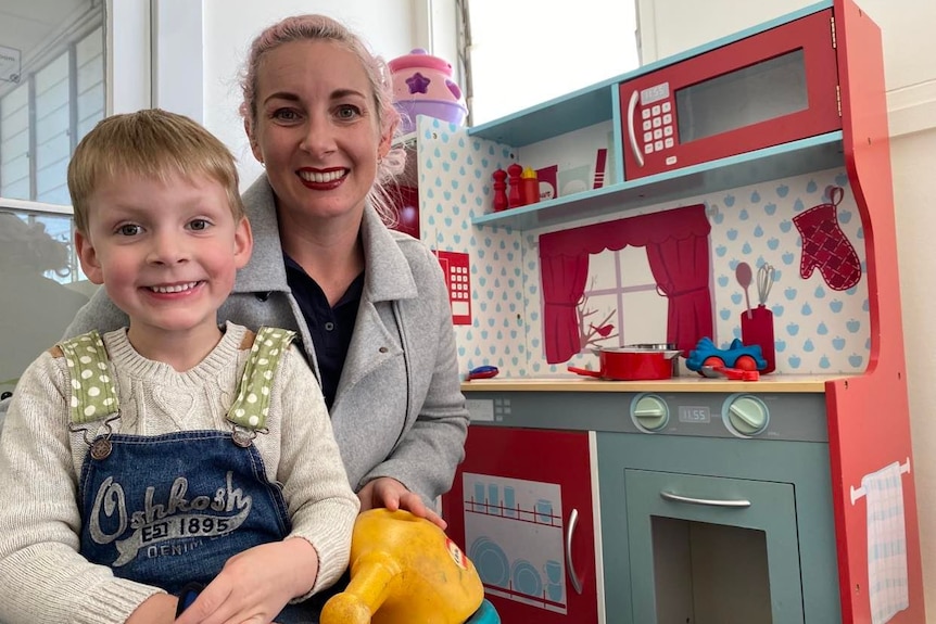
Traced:
<svg viewBox="0 0 936 624">
<path fill-rule="evenodd" d="M 72 374 L 72 424 L 87 424 L 117 413 L 117 389 L 107 352 L 97 331 L 59 343 Z"/>
</svg>

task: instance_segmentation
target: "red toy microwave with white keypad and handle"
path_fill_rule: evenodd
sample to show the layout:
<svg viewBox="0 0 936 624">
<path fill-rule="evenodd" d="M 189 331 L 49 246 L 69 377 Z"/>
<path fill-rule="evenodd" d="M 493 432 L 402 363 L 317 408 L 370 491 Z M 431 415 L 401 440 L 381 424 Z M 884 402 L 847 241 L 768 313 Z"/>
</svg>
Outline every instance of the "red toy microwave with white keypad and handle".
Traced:
<svg viewBox="0 0 936 624">
<path fill-rule="evenodd" d="M 633 180 L 842 129 L 832 10 L 620 85 Z"/>
</svg>

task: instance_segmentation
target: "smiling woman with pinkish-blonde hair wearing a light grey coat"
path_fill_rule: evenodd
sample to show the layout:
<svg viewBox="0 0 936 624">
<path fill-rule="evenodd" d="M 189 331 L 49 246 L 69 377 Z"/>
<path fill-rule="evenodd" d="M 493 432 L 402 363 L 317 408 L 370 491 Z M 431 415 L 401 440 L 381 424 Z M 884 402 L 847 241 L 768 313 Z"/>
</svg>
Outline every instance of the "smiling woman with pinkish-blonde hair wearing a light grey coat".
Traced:
<svg viewBox="0 0 936 624">
<path fill-rule="evenodd" d="M 438 260 L 393 232 L 383 184 L 402 170 L 383 62 L 341 24 L 289 17 L 252 43 L 241 112 L 266 173 L 244 193 L 254 255 L 219 319 L 296 330 L 362 510 L 444 527 L 468 425 Z M 126 319 L 103 291 L 67 335 Z"/>
</svg>

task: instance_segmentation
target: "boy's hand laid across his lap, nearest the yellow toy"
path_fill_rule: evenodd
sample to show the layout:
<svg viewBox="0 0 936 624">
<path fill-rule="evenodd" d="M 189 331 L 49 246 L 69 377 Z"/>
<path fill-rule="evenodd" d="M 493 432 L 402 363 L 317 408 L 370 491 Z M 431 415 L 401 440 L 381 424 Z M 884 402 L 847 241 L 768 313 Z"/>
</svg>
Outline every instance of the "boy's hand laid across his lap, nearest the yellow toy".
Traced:
<svg viewBox="0 0 936 624">
<path fill-rule="evenodd" d="M 269 624 L 317 575 L 318 553 L 301 537 L 254 546 L 228 559 L 176 624 Z"/>
</svg>

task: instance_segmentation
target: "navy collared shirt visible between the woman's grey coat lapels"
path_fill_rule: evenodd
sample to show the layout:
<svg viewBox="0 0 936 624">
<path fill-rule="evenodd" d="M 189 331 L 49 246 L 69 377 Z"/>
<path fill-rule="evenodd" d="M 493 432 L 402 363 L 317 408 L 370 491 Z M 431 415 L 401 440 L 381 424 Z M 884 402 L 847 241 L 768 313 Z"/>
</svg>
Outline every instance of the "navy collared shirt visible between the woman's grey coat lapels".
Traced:
<svg viewBox="0 0 936 624">
<path fill-rule="evenodd" d="M 361 305 L 361 295 L 364 292 L 364 271 L 351 282 L 334 307 L 331 307 L 321 286 L 305 272 L 305 269 L 286 254 L 283 254 L 283 260 L 286 281 L 299 303 L 312 334 L 315 358 L 318 360 L 318 370 L 321 374 L 325 404 L 331 409 L 334 395 L 338 393 L 341 370 L 347 358 L 351 336 L 354 334 L 357 307 Z"/>
</svg>

